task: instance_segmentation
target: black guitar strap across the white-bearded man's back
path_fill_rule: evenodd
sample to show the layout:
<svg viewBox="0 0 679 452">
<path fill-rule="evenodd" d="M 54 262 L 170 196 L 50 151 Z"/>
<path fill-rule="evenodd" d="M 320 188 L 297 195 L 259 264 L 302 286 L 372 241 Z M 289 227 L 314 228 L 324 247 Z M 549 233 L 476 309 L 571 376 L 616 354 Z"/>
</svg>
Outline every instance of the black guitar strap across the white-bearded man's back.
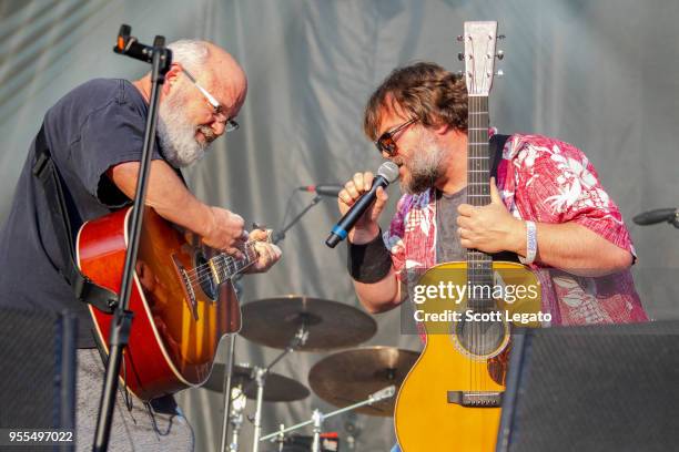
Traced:
<svg viewBox="0 0 679 452">
<path fill-rule="evenodd" d="M 62 261 L 68 268 L 59 269 L 59 273 L 69 282 L 75 298 L 79 301 L 90 304 L 99 310 L 112 314 L 118 304 L 118 295 L 113 291 L 94 284 L 84 276 L 75 265 L 73 235 L 61 176 L 54 165 L 54 161 L 44 138 L 44 126 L 40 127 L 36 137 L 36 163 L 33 163 L 33 176 L 42 184 L 48 198 L 50 216 L 57 233 L 57 242 L 61 253 Z"/>
</svg>

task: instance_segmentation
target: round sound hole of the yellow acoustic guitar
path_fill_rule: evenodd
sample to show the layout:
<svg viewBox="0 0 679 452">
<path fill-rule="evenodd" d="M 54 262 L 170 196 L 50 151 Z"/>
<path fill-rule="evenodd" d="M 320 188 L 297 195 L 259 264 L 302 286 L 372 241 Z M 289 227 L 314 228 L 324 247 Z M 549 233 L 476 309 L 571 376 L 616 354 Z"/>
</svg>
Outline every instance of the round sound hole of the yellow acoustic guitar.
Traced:
<svg viewBox="0 0 679 452">
<path fill-rule="evenodd" d="M 507 328 L 501 320 L 470 320 L 463 317 L 455 323 L 455 337 L 463 351 L 478 358 L 501 351 Z"/>
</svg>

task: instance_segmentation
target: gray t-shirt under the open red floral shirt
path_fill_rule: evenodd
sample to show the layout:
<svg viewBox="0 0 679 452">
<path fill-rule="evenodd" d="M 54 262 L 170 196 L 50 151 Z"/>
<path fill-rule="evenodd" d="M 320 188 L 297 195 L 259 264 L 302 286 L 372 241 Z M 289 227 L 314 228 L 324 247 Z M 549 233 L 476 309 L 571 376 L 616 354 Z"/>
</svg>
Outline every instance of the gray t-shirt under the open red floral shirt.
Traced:
<svg viewBox="0 0 679 452">
<path fill-rule="evenodd" d="M 467 202 L 467 187 L 453 194 L 436 191 L 436 263 L 467 260 L 467 248 L 459 244 L 457 207 Z"/>
</svg>

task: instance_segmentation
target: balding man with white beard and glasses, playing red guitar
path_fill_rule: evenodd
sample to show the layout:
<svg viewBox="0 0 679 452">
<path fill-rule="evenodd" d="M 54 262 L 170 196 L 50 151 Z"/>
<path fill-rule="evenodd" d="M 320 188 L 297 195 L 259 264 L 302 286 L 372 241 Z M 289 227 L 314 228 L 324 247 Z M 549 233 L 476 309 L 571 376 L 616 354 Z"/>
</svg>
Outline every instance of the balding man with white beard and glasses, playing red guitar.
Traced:
<svg viewBox="0 0 679 452">
<path fill-rule="evenodd" d="M 161 91 L 159 140 L 152 150 L 145 203 L 212 248 L 237 256 L 246 240 L 257 240 L 260 258 L 250 271 L 265 271 L 281 257 L 275 245 L 259 242 L 266 233 L 249 234 L 242 217 L 195 198 L 179 172 L 199 161 L 219 136 L 237 129 L 234 119 L 247 92 L 245 73 L 212 43 L 183 40 L 169 48 L 173 62 Z M 75 88 L 47 112 L 38 136 L 61 179 L 73 234 L 83 223 L 131 204 L 150 93 L 150 73 L 134 82 L 97 79 Z M 89 449 L 104 368 L 94 348 L 88 309 L 75 300 L 63 276 L 70 267 L 60 254 L 63 238 L 50 215 L 52 198 L 32 174 L 37 142 L 0 234 L 0 307 L 78 314 L 77 438 L 78 449 Z M 119 392 L 116 405 L 112 450 L 193 449 L 191 428 L 172 397 L 149 405 L 135 402 L 128 409 Z"/>
</svg>

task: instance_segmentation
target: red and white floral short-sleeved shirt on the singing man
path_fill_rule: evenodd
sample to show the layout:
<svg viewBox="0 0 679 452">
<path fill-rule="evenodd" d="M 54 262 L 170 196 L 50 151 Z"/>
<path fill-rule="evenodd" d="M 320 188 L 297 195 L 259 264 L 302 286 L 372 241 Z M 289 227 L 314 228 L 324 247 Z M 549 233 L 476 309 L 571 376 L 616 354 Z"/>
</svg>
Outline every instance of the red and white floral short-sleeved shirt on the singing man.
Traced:
<svg viewBox="0 0 679 452">
<path fill-rule="evenodd" d="M 497 185 L 509 212 L 539 223 L 575 222 L 635 255 L 616 204 L 576 146 L 540 135 L 511 135 L 503 150 Z M 384 242 L 398 278 L 436 265 L 435 189 L 404 195 Z M 539 249 L 539 243 L 538 243 Z M 636 257 L 636 255 L 635 255 Z M 551 325 L 625 323 L 648 320 L 629 270 L 579 277 L 535 261 L 543 285 L 543 312 Z"/>
</svg>

